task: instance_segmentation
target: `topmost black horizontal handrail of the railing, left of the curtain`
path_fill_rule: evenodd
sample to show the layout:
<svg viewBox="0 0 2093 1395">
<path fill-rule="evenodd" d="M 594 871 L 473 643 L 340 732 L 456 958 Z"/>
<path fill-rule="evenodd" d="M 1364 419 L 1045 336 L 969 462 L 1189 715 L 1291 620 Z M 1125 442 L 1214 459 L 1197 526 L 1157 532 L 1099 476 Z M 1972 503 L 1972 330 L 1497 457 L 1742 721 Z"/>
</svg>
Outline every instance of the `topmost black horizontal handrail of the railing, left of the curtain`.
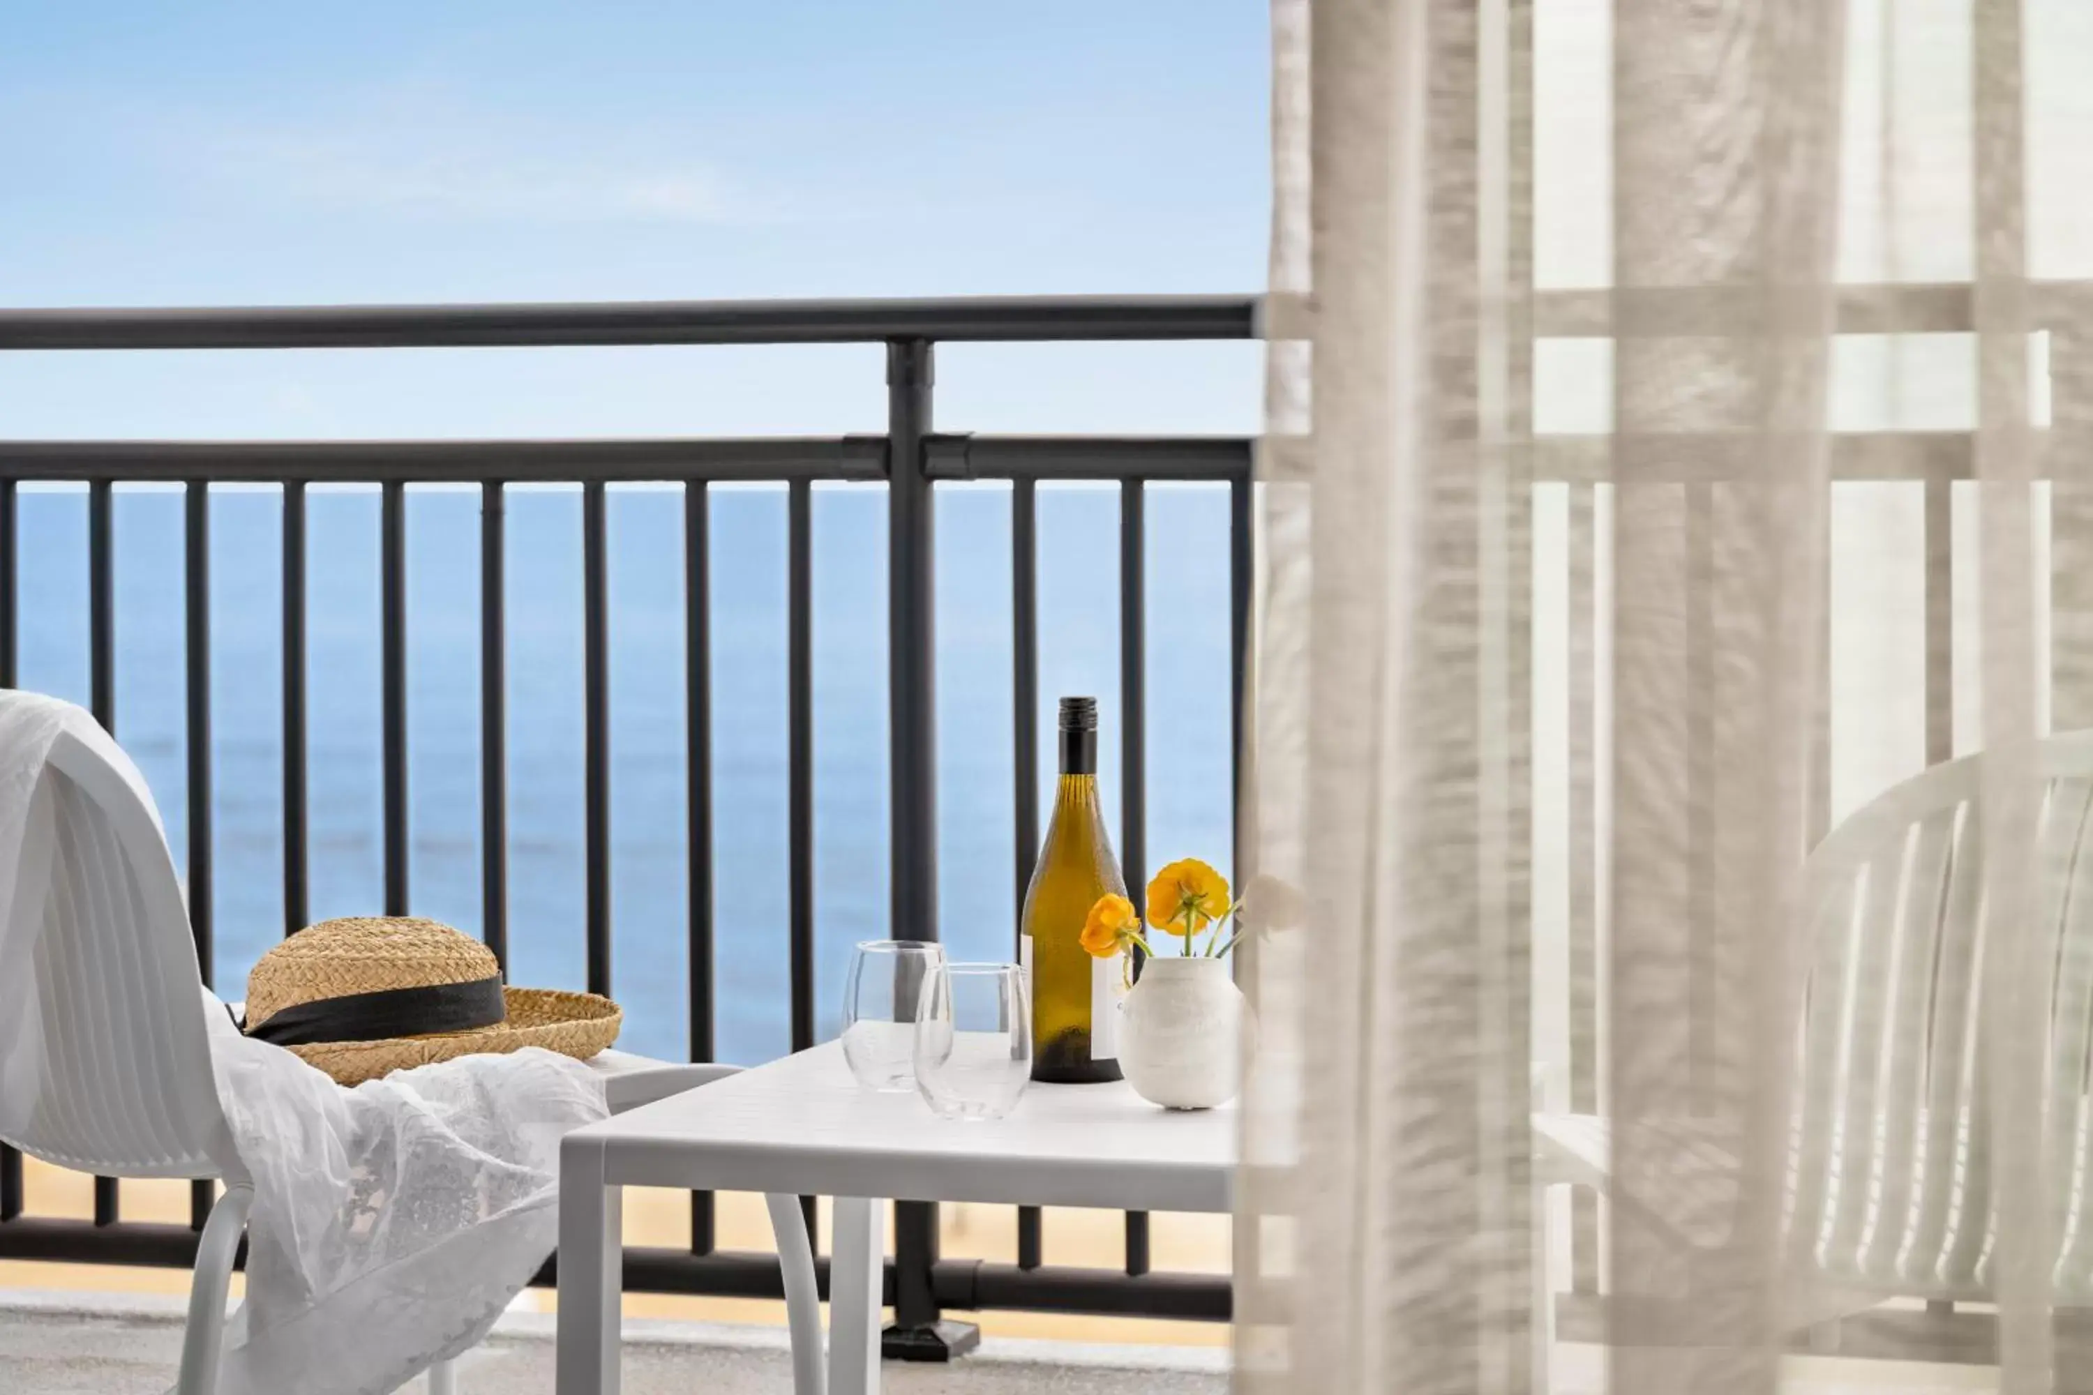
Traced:
<svg viewBox="0 0 2093 1395">
<path fill-rule="evenodd" d="M 1254 339 L 1256 295 L 0 310 L 0 349 Z"/>
</svg>

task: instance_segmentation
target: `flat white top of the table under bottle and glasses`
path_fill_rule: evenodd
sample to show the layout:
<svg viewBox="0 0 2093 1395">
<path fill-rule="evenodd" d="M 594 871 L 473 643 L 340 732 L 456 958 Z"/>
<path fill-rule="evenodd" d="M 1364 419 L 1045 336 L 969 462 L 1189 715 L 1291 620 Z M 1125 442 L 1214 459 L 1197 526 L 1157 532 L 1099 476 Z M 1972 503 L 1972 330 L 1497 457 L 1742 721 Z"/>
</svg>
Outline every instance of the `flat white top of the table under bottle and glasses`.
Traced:
<svg viewBox="0 0 2093 1395">
<path fill-rule="evenodd" d="M 1226 1211 L 1237 1113 L 1132 1085 L 1040 1085 L 1005 1119 L 940 1119 L 852 1077 L 835 1042 L 569 1134 L 603 1180 L 722 1192 Z"/>
</svg>

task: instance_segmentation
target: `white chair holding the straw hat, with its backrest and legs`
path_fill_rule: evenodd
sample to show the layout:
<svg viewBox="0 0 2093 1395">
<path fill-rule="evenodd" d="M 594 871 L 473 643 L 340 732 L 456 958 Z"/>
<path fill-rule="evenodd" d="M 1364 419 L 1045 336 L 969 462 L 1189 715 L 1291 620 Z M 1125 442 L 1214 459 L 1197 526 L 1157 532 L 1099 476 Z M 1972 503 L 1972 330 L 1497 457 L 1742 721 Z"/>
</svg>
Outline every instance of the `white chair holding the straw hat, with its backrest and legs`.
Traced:
<svg viewBox="0 0 2093 1395">
<path fill-rule="evenodd" d="M 13 694 L 0 692 L 0 703 Z M 4 927 L 13 979 L 0 989 L 0 1142 L 57 1167 L 111 1177 L 216 1177 L 226 1184 L 197 1244 L 182 1334 L 178 1395 L 218 1382 L 226 1284 L 253 1205 L 253 1186 L 218 1104 L 205 1039 L 205 996 L 188 910 L 144 782 L 98 730 L 63 732 L 50 751 L 23 843 Z M 626 1111 L 735 1071 L 603 1052 L 611 1111 Z M 800 1205 L 772 1196 L 785 1265 L 800 1389 L 818 1372 L 820 1311 Z M 789 1224 L 787 1224 L 789 1221 Z M 812 1334 L 812 1347 L 808 1336 Z M 816 1355 L 806 1357 L 812 1351 Z M 448 1395 L 452 1370 L 429 1370 Z"/>
</svg>

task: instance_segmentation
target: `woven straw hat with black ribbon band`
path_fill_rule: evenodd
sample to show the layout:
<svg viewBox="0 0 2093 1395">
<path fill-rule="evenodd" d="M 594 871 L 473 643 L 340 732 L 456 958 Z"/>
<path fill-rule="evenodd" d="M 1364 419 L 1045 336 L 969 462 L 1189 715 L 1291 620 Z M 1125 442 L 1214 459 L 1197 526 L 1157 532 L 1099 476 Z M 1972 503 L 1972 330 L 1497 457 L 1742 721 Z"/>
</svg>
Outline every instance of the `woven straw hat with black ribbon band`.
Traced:
<svg viewBox="0 0 2093 1395">
<path fill-rule="evenodd" d="M 247 975 L 251 1037 L 343 1085 L 473 1052 L 542 1046 L 586 1060 L 624 1014 L 597 993 L 502 987 L 494 954 L 435 920 L 345 916 L 291 935 Z"/>
</svg>

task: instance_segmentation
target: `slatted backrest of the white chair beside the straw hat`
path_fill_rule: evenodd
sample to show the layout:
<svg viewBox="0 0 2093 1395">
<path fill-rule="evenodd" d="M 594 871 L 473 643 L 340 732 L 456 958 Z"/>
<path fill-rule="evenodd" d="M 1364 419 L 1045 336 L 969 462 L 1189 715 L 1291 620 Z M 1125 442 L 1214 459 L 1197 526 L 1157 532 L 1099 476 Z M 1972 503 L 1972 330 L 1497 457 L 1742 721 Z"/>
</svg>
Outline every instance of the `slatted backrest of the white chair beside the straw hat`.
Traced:
<svg viewBox="0 0 2093 1395">
<path fill-rule="evenodd" d="M 98 728 L 50 747 L 10 893 L 0 1140 L 105 1175 L 241 1175 L 174 862 Z"/>
</svg>

